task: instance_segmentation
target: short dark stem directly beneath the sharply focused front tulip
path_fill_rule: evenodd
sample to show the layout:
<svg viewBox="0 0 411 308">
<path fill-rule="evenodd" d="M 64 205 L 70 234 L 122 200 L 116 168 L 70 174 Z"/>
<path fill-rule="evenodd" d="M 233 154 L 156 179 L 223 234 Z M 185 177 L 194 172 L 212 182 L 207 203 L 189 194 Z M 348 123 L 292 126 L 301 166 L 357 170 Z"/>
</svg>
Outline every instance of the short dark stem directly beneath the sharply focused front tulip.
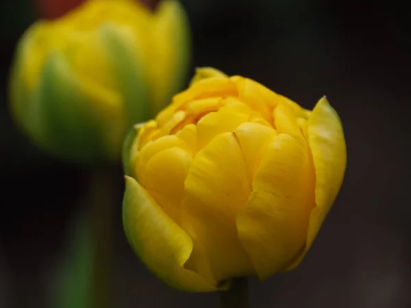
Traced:
<svg viewBox="0 0 411 308">
<path fill-rule="evenodd" d="M 248 308 L 249 293 L 247 277 L 236 278 L 227 291 L 219 292 L 221 308 Z"/>
</svg>

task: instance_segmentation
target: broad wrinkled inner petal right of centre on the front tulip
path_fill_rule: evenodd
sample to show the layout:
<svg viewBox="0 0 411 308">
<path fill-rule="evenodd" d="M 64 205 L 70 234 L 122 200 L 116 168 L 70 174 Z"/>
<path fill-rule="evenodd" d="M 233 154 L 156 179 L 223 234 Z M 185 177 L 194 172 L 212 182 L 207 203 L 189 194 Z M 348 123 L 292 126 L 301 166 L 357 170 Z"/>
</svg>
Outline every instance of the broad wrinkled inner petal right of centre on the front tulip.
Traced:
<svg viewBox="0 0 411 308">
<path fill-rule="evenodd" d="M 303 248 L 313 192 L 309 153 L 291 136 L 275 137 L 237 216 L 238 236 L 260 279 L 277 272 Z"/>
</svg>

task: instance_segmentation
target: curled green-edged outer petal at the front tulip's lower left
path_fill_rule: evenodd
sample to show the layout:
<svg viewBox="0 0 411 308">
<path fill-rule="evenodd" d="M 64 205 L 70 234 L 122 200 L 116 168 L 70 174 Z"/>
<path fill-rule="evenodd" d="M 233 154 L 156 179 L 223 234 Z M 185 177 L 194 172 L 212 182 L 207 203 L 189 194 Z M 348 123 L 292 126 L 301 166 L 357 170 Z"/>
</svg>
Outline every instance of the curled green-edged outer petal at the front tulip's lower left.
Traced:
<svg viewBox="0 0 411 308">
<path fill-rule="evenodd" d="M 160 279 L 179 290 L 217 290 L 184 268 L 192 252 L 192 240 L 132 177 L 126 177 L 123 223 L 134 250 Z"/>
</svg>

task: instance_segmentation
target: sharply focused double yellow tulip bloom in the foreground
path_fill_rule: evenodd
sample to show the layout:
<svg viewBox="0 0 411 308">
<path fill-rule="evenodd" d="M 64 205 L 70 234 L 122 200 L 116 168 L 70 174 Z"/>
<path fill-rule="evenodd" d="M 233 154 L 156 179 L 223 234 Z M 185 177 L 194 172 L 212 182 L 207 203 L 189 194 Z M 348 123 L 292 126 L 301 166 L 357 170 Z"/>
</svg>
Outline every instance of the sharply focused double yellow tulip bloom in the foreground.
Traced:
<svg viewBox="0 0 411 308">
<path fill-rule="evenodd" d="M 160 279 L 208 292 L 295 268 L 340 190 L 343 128 L 256 81 L 197 71 L 125 141 L 125 233 Z"/>
</svg>

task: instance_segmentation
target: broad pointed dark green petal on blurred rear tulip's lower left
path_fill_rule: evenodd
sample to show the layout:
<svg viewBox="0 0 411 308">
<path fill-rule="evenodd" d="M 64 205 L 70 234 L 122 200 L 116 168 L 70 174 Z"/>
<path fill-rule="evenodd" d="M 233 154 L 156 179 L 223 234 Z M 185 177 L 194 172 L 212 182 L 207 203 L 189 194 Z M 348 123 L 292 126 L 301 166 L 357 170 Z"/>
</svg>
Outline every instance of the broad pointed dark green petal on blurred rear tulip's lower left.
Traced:
<svg viewBox="0 0 411 308">
<path fill-rule="evenodd" d="M 112 149 L 105 143 L 104 123 L 60 53 L 49 55 L 32 103 L 40 112 L 41 133 L 51 151 L 80 162 L 116 156 L 108 152 Z"/>
</svg>

